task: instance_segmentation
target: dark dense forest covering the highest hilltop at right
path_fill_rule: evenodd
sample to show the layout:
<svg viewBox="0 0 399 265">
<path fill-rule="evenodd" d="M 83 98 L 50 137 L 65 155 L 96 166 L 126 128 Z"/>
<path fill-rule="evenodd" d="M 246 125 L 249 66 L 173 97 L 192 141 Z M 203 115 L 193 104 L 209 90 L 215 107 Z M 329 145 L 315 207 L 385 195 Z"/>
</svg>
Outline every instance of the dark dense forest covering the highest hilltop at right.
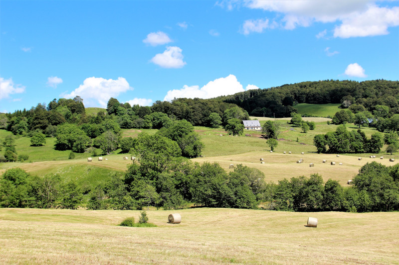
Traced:
<svg viewBox="0 0 399 265">
<path fill-rule="evenodd" d="M 341 103 L 342 108 L 358 104 L 371 112 L 375 110 L 376 105 L 384 105 L 395 114 L 399 113 L 399 82 L 387 80 L 301 82 L 248 90 L 217 99 L 237 104 L 252 116 L 289 117 L 295 110 L 296 103 Z"/>
</svg>

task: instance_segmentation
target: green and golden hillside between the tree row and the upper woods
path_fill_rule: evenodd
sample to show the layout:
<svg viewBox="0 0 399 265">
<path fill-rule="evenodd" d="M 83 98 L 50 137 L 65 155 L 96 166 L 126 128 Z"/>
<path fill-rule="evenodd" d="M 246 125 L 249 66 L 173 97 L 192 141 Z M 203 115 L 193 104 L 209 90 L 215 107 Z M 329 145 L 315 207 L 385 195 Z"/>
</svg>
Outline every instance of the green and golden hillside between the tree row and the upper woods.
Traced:
<svg viewBox="0 0 399 265">
<path fill-rule="evenodd" d="M 260 120 L 268 118 L 259 118 Z M 298 176 L 308 177 L 310 174 L 319 173 L 325 181 L 329 178 L 340 180 L 341 185 L 347 185 L 347 180 L 352 179 L 358 174 L 359 168 L 367 162 L 376 161 L 371 159 L 371 154 L 347 154 L 336 157 L 333 154 L 317 154 L 316 147 L 313 145 L 313 137 L 316 134 L 335 131 L 337 125 L 327 125 L 326 118 L 305 118 L 316 122 L 316 129 L 310 130 L 308 133 L 302 133 L 301 128 L 293 127 L 287 123 L 289 118 L 277 119 L 282 124 L 282 132 L 278 146 L 273 153 L 269 152 L 266 140 L 260 132 L 245 131 L 244 133 L 251 136 L 228 136 L 222 128 L 212 129 L 207 127 L 195 127 L 200 134 L 204 143 L 203 157 L 192 159 L 193 162 L 217 162 L 227 172 L 232 171 L 229 165 L 243 164 L 248 167 L 257 168 L 265 174 L 265 181 L 277 182 L 283 178 L 291 178 Z M 346 124 L 348 130 L 357 129 L 353 124 Z M 376 132 L 374 128 L 362 128 L 367 137 Z M 124 129 L 124 137 L 137 137 L 140 132 L 155 133 L 153 129 Z M 0 130 L 0 138 L 10 134 L 4 130 Z M 220 136 L 220 134 L 222 136 Z M 65 178 L 74 178 L 84 187 L 85 181 L 94 185 L 101 179 L 111 176 L 112 172 L 124 172 L 130 161 L 123 160 L 128 154 L 119 154 L 120 150 L 114 151 L 113 154 L 103 156 L 107 161 L 98 161 L 93 158 L 92 162 L 87 162 L 90 154 L 77 154 L 76 159 L 68 160 L 70 151 L 54 150 L 55 138 L 46 138 L 47 143 L 43 147 L 27 146 L 30 142 L 28 137 L 18 138 L 16 143 L 16 151 L 18 154 L 28 154 L 29 161 L 20 163 L 1 163 L 0 174 L 10 167 L 20 167 L 27 172 L 44 176 L 49 173 L 58 173 Z M 298 139 L 298 142 L 297 142 Z M 385 151 L 386 147 L 382 150 Z M 287 154 L 283 154 L 283 152 Z M 288 154 L 288 152 L 292 154 Z M 301 153 L 304 152 L 302 155 Z M 379 163 L 384 165 L 394 165 L 396 162 L 389 162 L 388 158 L 398 159 L 399 153 L 388 155 L 382 152 L 379 156 L 385 159 L 377 159 Z M 358 160 L 362 157 L 363 160 Z M 260 164 L 259 159 L 263 158 L 265 164 Z M 304 159 L 303 164 L 297 164 L 296 161 Z M 322 163 L 322 160 L 327 163 Z M 330 162 L 336 162 L 335 166 L 331 166 Z M 310 168 L 309 164 L 314 163 L 315 167 Z M 343 163 L 339 166 L 339 163 Z M 94 184 L 92 184 L 94 183 Z"/>
</svg>

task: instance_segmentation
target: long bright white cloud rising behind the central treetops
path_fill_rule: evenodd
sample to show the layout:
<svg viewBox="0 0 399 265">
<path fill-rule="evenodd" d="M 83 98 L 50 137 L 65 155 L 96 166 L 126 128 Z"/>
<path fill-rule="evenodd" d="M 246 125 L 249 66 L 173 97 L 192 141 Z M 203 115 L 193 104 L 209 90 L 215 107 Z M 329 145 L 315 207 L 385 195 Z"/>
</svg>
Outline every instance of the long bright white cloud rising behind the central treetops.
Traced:
<svg viewBox="0 0 399 265">
<path fill-rule="evenodd" d="M 242 92 L 244 88 L 237 81 L 234 75 L 229 75 L 225 78 L 218 78 L 210 81 L 208 84 L 200 88 L 199 86 L 183 86 L 182 89 L 169 90 L 164 100 L 170 101 L 172 99 L 187 97 L 187 98 L 212 98 L 220 95 L 231 95 Z"/>
</svg>

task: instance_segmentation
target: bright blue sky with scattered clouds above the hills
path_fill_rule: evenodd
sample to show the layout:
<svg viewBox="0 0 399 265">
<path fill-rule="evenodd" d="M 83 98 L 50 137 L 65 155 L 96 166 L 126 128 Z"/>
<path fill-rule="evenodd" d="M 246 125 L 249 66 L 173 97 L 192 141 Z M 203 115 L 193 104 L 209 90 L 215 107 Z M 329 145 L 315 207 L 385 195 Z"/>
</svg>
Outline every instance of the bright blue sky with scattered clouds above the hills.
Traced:
<svg viewBox="0 0 399 265">
<path fill-rule="evenodd" d="M 0 38 L 0 112 L 399 76 L 395 0 L 1 0 Z"/>
</svg>

